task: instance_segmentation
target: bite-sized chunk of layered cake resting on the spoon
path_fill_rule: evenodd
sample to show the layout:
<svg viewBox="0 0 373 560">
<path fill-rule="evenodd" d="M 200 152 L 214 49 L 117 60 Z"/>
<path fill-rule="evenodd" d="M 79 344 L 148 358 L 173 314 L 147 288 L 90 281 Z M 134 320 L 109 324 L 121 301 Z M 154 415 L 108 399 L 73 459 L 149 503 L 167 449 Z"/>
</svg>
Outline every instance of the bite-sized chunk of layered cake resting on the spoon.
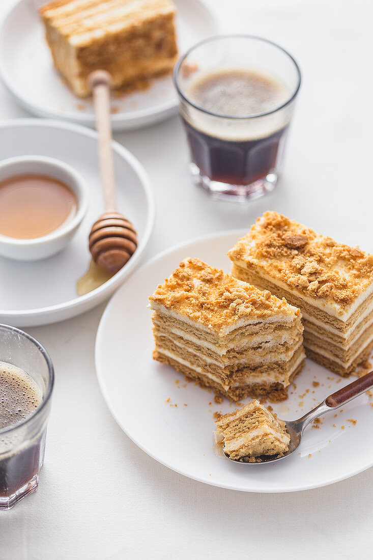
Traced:
<svg viewBox="0 0 373 560">
<path fill-rule="evenodd" d="M 217 438 L 231 459 L 278 455 L 289 449 L 290 435 L 285 422 L 258 400 L 221 416 L 215 423 Z"/>
</svg>

